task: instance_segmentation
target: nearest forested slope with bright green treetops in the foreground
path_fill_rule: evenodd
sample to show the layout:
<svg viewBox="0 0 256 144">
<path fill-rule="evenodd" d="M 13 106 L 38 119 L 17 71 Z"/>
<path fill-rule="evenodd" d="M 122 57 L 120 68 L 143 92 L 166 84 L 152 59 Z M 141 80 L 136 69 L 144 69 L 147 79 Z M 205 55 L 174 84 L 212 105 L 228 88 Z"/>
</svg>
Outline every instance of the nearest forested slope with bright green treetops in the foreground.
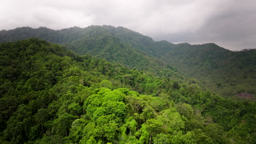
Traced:
<svg viewBox="0 0 256 144">
<path fill-rule="evenodd" d="M 0 57 L 0 143 L 255 143 L 252 101 L 36 38 Z"/>
</svg>

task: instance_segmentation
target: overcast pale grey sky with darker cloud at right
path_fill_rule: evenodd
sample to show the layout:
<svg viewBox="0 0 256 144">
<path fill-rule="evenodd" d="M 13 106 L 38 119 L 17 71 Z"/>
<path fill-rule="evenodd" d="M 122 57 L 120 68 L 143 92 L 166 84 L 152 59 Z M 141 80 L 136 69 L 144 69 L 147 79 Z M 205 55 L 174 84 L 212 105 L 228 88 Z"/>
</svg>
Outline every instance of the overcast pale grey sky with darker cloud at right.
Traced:
<svg viewBox="0 0 256 144">
<path fill-rule="evenodd" d="M 256 49 L 256 0 L 1 0 L 0 30 L 122 26 L 170 43 Z"/>
</svg>

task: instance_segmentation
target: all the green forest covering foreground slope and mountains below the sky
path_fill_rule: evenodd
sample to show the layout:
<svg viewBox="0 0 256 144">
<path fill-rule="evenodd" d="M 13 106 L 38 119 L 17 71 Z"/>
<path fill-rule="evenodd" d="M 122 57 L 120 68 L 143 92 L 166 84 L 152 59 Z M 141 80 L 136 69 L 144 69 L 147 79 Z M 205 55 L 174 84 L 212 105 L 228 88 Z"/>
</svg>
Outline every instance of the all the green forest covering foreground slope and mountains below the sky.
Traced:
<svg viewBox="0 0 256 144">
<path fill-rule="evenodd" d="M 256 143 L 255 99 L 236 96 L 255 97 L 255 50 L 111 26 L 0 41 L 0 143 Z"/>
</svg>

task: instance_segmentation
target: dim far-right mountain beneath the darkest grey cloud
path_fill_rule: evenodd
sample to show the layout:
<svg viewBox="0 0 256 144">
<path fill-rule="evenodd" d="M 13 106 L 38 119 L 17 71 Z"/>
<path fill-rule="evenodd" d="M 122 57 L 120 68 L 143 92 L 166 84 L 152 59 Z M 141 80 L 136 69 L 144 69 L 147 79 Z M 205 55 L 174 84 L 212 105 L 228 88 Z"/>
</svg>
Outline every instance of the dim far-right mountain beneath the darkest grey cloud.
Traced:
<svg viewBox="0 0 256 144">
<path fill-rule="evenodd" d="M 192 49 L 192 50 L 191 50 Z M 190 45 L 166 52 L 166 63 L 225 96 L 255 94 L 256 50 L 229 51 L 215 44 Z"/>
</svg>

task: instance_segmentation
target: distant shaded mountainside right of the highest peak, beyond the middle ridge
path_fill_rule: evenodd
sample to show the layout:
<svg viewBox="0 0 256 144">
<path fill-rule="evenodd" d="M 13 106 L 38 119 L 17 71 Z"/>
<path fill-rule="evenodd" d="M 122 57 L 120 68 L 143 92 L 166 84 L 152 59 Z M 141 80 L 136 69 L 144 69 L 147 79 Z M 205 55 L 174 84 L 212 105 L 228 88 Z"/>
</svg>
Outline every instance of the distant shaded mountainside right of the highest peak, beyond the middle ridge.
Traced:
<svg viewBox="0 0 256 144">
<path fill-rule="evenodd" d="M 256 93 L 256 49 L 230 51 L 216 44 L 190 45 L 154 41 L 123 27 L 103 26 L 125 44 L 148 52 L 182 74 L 194 77 L 213 92 L 231 97 L 241 92 Z"/>
</svg>

